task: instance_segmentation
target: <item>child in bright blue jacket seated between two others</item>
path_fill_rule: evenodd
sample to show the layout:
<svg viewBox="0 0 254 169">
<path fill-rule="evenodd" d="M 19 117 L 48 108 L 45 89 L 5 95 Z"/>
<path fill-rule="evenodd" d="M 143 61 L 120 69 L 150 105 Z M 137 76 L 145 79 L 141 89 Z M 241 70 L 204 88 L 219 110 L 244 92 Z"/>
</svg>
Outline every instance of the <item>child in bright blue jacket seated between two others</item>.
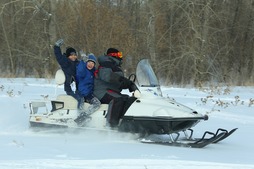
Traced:
<svg viewBox="0 0 254 169">
<path fill-rule="evenodd" d="M 76 77 L 78 84 L 78 93 L 81 97 L 79 111 L 81 112 L 74 121 L 81 124 L 83 120 L 100 108 L 101 102 L 93 95 L 94 91 L 94 72 L 95 72 L 96 57 L 94 54 L 89 54 L 86 62 L 81 60 L 77 65 Z M 90 106 L 84 110 L 84 101 L 90 103 Z"/>
</svg>

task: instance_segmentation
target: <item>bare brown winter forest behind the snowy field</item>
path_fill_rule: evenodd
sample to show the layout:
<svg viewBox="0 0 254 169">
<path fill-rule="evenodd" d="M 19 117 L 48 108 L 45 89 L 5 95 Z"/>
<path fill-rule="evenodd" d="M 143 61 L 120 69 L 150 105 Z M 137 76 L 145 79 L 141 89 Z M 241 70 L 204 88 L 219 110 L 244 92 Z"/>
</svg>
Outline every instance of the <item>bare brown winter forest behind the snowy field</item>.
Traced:
<svg viewBox="0 0 254 169">
<path fill-rule="evenodd" d="M 254 84 L 254 0 L 1 0 L 0 77 L 54 77 L 60 38 L 117 48 L 126 76 L 149 58 L 163 85 Z"/>
</svg>

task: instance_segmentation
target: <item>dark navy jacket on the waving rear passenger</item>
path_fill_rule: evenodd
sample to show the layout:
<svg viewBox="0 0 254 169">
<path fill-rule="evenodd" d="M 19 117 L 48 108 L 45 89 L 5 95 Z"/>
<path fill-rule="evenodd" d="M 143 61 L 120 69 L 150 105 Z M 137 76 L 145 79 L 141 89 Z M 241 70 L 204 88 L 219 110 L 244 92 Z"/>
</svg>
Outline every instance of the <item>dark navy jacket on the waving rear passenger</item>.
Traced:
<svg viewBox="0 0 254 169">
<path fill-rule="evenodd" d="M 71 61 L 66 57 L 66 54 L 62 54 L 61 48 L 58 46 L 54 46 L 54 53 L 56 56 L 56 60 L 61 66 L 64 74 L 65 74 L 65 83 L 64 90 L 66 92 L 73 92 L 71 89 L 71 83 L 76 81 L 76 66 L 79 63 L 78 60 Z"/>
</svg>

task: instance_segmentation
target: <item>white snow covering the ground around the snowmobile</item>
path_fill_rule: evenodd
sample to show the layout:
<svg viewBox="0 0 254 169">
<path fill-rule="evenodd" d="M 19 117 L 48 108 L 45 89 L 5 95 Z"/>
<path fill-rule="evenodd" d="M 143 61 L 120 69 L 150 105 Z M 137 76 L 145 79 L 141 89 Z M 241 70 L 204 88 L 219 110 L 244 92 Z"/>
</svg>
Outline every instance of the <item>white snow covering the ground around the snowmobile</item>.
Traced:
<svg viewBox="0 0 254 169">
<path fill-rule="evenodd" d="M 164 96 L 209 115 L 194 136 L 238 128 L 218 144 L 195 149 L 143 144 L 129 133 L 32 130 L 29 101 L 55 98 L 63 87 L 48 79 L 0 78 L 0 169 L 253 169 L 254 87 L 210 89 L 162 88 Z"/>
</svg>

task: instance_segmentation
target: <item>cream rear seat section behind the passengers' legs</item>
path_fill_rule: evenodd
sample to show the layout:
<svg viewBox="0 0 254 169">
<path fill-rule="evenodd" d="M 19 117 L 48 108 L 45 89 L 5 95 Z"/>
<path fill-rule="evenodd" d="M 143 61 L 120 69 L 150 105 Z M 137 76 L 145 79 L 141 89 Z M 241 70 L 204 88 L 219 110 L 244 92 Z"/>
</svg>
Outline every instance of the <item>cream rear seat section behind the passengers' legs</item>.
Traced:
<svg viewBox="0 0 254 169">
<path fill-rule="evenodd" d="M 78 101 L 70 95 L 61 94 L 57 96 L 56 100 L 52 100 L 51 104 L 52 104 L 51 112 L 59 109 L 75 110 L 77 109 Z"/>
</svg>

